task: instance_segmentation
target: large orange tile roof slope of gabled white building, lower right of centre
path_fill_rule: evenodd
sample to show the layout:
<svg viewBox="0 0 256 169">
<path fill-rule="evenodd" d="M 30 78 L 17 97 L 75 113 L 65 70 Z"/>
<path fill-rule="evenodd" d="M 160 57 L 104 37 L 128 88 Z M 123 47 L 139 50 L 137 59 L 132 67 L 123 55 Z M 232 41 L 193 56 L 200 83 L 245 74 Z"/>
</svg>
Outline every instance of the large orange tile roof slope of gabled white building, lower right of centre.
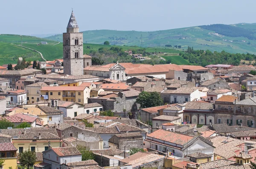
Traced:
<svg viewBox="0 0 256 169">
<path fill-rule="evenodd" d="M 180 133 L 170 132 L 162 129 L 159 129 L 150 133 L 147 137 L 156 138 L 159 140 L 167 141 L 174 144 L 180 144 L 180 145 L 184 145 L 194 138 L 189 135 L 183 135 Z"/>
</svg>

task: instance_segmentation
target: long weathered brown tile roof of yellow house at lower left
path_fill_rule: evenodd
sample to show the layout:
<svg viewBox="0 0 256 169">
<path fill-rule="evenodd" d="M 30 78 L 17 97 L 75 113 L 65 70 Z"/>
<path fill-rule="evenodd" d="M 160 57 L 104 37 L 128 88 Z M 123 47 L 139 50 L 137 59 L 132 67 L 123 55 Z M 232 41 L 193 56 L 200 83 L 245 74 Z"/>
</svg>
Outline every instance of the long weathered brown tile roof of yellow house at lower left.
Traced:
<svg viewBox="0 0 256 169">
<path fill-rule="evenodd" d="M 60 139 L 56 129 L 35 127 L 30 129 L 1 129 L 0 133 L 12 136 L 13 140 Z M 40 137 L 39 137 L 40 135 Z"/>
</svg>

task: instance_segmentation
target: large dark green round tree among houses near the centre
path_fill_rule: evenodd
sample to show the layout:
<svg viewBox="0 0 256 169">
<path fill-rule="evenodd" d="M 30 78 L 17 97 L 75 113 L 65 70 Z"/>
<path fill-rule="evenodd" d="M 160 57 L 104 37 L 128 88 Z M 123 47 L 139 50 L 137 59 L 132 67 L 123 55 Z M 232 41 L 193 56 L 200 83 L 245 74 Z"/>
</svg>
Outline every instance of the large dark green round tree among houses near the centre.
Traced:
<svg viewBox="0 0 256 169">
<path fill-rule="evenodd" d="M 140 104 L 141 108 L 155 107 L 163 104 L 163 99 L 157 92 L 140 92 L 136 99 L 136 103 Z"/>
</svg>

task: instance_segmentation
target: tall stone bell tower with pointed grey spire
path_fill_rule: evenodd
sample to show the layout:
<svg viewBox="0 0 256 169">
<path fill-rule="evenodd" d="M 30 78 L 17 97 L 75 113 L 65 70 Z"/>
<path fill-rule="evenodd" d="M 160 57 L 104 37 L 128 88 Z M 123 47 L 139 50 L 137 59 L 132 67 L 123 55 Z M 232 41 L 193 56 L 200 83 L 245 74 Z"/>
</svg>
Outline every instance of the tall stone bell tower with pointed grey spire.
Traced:
<svg viewBox="0 0 256 169">
<path fill-rule="evenodd" d="M 72 10 L 67 24 L 67 33 L 63 33 L 64 74 L 73 76 L 84 74 L 83 54 L 83 33 L 79 33 L 79 27 Z"/>
</svg>

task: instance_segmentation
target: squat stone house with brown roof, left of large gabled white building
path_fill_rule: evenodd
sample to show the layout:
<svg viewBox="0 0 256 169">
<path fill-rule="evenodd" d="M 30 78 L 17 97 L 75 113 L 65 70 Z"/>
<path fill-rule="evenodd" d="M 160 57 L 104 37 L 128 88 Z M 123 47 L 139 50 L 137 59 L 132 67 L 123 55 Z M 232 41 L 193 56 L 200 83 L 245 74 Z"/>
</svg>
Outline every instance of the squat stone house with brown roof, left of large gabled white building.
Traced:
<svg viewBox="0 0 256 169">
<path fill-rule="evenodd" d="M 116 134 L 108 140 L 108 145 L 111 149 L 143 149 L 143 137 L 139 132 Z"/>
</svg>

